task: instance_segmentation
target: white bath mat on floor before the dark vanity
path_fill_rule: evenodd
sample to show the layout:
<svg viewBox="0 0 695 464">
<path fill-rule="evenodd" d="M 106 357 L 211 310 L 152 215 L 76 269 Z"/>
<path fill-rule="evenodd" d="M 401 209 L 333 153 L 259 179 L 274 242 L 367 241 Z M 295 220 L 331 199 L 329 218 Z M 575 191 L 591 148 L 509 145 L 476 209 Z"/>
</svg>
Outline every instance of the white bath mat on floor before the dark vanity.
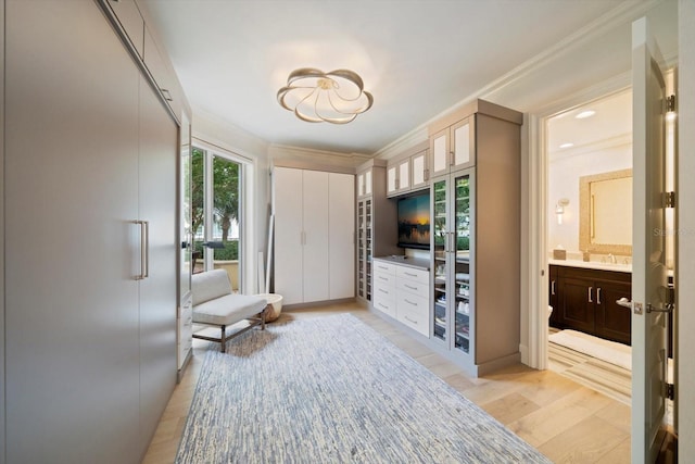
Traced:
<svg viewBox="0 0 695 464">
<path fill-rule="evenodd" d="M 628 371 L 632 367 L 632 350 L 627 344 L 577 330 L 560 330 L 549 335 L 548 340 Z"/>
</svg>

